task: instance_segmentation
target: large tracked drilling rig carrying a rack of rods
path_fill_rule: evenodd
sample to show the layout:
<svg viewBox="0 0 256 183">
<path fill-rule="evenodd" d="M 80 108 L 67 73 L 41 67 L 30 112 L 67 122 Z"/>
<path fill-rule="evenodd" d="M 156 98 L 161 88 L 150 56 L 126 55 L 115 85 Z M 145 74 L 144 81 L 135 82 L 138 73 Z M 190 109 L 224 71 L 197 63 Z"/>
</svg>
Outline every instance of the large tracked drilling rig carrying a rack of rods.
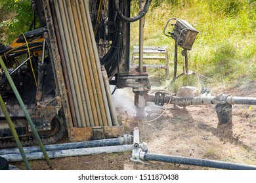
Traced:
<svg viewBox="0 0 256 183">
<path fill-rule="evenodd" d="M 20 34 L 0 55 L 44 144 L 64 135 L 89 141 L 124 134 L 112 103 L 110 84 L 133 88 L 135 103 L 146 102 L 148 73 L 129 67 L 131 22 L 141 20 L 151 0 L 139 0 L 130 17 L 130 0 L 34 0 L 40 27 Z M 24 111 L 7 76 L 1 96 L 24 146 L 35 143 Z M 0 146 L 15 146 L 0 111 Z"/>
</svg>

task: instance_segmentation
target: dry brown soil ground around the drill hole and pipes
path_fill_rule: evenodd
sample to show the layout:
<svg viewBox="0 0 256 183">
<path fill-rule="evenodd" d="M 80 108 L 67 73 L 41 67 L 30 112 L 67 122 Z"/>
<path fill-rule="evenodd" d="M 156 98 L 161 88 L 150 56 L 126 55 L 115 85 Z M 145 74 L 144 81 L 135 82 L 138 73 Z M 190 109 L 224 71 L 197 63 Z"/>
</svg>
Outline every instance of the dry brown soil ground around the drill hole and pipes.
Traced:
<svg viewBox="0 0 256 183">
<path fill-rule="evenodd" d="M 237 84 L 226 89 L 228 95 L 256 97 L 256 82 Z M 213 95 L 220 95 L 223 89 L 211 88 Z M 215 105 L 174 108 L 173 105 L 158 107 L 148 104 L 143 120 L 154 122 L 138 123 L 136 108 L 133 106 L 131 90 L 117 90 L 114 101 L 118 113 L 123 116 L 123 126 L 127 133 L 133 127 L 140 129 L 140 141 L 148 144 L 148 151 L 158 154 L 216 159 L 235 163 L 256 165 L 256 107 L 234 105 L 233 138 L 227 141 L 217 133 Z M 67 141 L 67 140 L 66 140 Z M 175 165 L 151 161 L 150 165 L 130 161 L 131 152 L 79 156 L 52 159 L 51 169 L 209 169 L 189 165 Z M 30 161 L 32 169 L 50 169 L 44 160 Z M 24 169 L 22 162 L 12 162 Z"/>
</svg>

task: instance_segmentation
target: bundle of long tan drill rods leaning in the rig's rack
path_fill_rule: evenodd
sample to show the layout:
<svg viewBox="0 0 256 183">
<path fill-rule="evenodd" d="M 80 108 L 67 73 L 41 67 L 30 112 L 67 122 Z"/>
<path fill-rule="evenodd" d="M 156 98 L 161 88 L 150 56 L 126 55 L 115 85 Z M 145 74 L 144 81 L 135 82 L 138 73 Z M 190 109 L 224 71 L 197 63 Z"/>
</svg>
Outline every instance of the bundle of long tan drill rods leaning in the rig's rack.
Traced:
<svg viewBox="0 0 256 183">
<path fill-rule="evenodd" d="M 87 2 L 53 2 L 74 102 L 74 126 L 118 125 L 116 111 L 110 111 L 112 96 L 107 96 L 102 78 Z"/>
</svg>

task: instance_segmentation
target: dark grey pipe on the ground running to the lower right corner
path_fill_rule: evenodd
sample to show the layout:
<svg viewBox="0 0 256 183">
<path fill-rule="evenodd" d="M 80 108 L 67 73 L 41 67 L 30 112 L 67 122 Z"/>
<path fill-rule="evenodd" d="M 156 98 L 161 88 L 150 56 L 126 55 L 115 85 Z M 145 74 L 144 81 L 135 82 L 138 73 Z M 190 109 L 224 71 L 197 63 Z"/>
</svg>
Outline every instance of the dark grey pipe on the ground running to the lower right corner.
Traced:
<svg viewBox="0 0 256 183">
<path fill-rule="evenodd" d="M 146 161 L 163 161 L 168 163 L 178 163 L 183 165 L 195 165 L 200 167 L 211 167 L 216 169 L 228 170 L 256 170 L 254 165 L 244 165 L 240 163 L 230 163 L 226 161 L 216 161 L 210 159 L 187 158 L 182 156 L 169 156 L 163 154 L 146 153 L 144 155 Z"/>
</svg>

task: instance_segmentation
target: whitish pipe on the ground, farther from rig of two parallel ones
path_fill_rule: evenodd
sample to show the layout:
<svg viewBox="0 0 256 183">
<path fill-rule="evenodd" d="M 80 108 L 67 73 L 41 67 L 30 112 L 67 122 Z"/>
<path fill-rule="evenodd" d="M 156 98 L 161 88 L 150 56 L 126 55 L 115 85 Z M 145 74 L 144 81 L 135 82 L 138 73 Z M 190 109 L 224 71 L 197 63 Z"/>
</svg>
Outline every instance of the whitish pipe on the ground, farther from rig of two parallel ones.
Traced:
<svg viewBox="0 0 256 183">
<path fill-rule="evenodd" d="M 79 149 L 69 149 L 69 150 L 58 150 L 58 151 L 49 151 L 50 158 L 64 158 L 70 156 L 85 156 L 85 155 L 95 155 L 95 154 L 110 154 L 117 152 L 126 152 L 133 150 L 133 144 L 122 145 L 122 146 L 104 146 L 96 148 L 79 148 Z M 22 161 L 20 154 L 7 154 L 3 155 L 3 158 L 8 161 Z M 28 159 L 42 159 L 43 154 L 41 152 L 33 152 L 27 154 Z"/>
</svg>

